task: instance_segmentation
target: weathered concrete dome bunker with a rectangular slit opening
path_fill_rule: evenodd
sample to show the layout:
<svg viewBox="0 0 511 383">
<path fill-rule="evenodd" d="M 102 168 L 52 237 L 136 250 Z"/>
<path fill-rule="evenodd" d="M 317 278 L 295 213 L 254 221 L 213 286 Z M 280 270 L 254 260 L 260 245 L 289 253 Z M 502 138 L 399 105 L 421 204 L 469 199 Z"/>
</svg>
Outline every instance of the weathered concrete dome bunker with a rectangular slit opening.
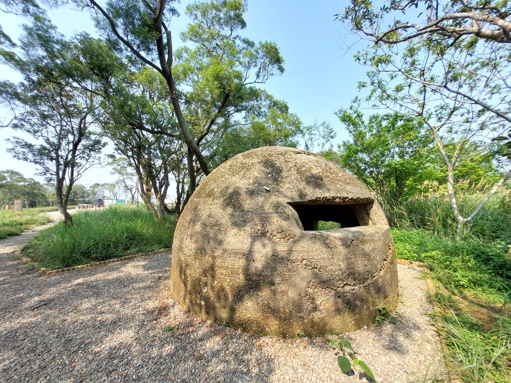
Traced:
<svg viewBox="0 0 511 383">
<path fill-rule="evenodd" d="M 341 228 L 318 231 L 318 221 Z M 184 208 L 171 294 L 244 331 L 353 331 L 398 303 L 390 228 L 370 192 L 333 162 L 294 148 L 250 150 L 207 176 Z"/>
</svg>

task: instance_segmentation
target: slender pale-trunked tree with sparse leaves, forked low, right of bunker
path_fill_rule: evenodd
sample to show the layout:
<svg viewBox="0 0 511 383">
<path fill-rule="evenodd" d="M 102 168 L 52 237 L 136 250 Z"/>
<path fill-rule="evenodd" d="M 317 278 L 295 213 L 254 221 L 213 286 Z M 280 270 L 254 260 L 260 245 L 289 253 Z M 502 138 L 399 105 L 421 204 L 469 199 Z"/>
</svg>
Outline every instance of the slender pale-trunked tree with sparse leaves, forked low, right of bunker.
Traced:
<svg viewBox="0 0 511 383">
<path fill-rule="evenodd" d="M 511 162 L 502 162 L 501 179 L 472 213 L 461 215 L 457 167 L 474 156 L 497 153 L 491 138 L 509 131 L 511 124 L 511 44 L 502 37 L 510 9 L 499 4 L 416 0 L 375 8 L 370 1 L 352 0 L 343 14 L 355 33 L 375 43 L 355 56 L 370 68 L 369 81 L 360 83 L 369 94 L 359 105 L 366 101 L 415 116 L 429 128 L 444 163 L 458 237 L 464 223 L 511 177 Z M 422 26 L 400 19 L 416 16 L 425 20 Z M 472 143 L 477 144 L 475 153 L 468 150 Z"/>
</svg>

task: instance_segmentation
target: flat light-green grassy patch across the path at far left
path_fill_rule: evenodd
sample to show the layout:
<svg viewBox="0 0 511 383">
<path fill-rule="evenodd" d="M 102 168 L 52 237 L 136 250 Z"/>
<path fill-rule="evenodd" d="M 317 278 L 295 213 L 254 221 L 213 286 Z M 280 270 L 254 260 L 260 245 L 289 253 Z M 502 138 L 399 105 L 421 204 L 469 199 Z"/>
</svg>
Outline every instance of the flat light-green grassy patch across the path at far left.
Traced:
<svg viewBox="0 0 511 383">
<path fill-rule="evenodd" d="M 45 214 L 47 211 L 54 211 L 49 209 L 57 208 L 35 207 L 17 212 L 12 209 L 0 210 L 0 239 L 52 222 L 52 219 Z"/>
</svg>

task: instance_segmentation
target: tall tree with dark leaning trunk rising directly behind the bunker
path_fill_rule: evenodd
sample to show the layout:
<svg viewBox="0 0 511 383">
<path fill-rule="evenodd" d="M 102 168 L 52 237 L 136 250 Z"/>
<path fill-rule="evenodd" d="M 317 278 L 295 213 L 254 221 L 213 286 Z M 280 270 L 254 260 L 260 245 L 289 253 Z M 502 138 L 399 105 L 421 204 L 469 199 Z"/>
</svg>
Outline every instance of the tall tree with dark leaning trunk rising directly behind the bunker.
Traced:
<svg viewBox="0 0 511 383">
<path fill-rule="evenodd" d="M 166 6 L 165 3 L 158 4 Z M 244 2 L 191 4 L 187 7 L 187 14 L 192 22 L 181 34 L 188 44 L 175 52 L 169 50 L 164 53 L 158 45 L 159 32 L 151 30 L 153 26 L 143 22 L 154 20 L 154 10 L 147 3 L 131 2 L 129 12 L 127 6 L 127 3 L 110 2 L 105 9 L 96 8 L 101 16 L 97 21 L 105 27 L 104 20 L 107 20 L 110 37 L 118 40 L 110 40 L 110 43 L 121 48 L 118 52 L 134 54 L 146 66 L 137 68 L 133 60 L 115 64 L 123 68 L 120 71 L 124 74 L 107 81 L 108 101 L 105 105 L 108 106 L 103 110 L 105 115 L 115 111 L 115 115 L 107 117 L 112 123 L 106 135 L 117 140 L 118 152 L 130 159 L 134 169 L 140 168 L 141 194 L 144 194 L 143 185 L 154 185 L 146 188 L 151 193 L 145 197 L 147 200 L 164 201 L 158 195 L 166 190 L 164 184 L 168 176 L 165 173 L 168 172 L 176 182 L 174 210 L 179 212 L 202 177 L 225 159 L 261 144 L 291 144 L 291 137 L 301 131 L 301 122 L 289 113 L 284 102 L 274 100 L 255 86 L 282 73 L 283 59 L 274 43 L 257 44 L 238 35 L 245 27 L 242 17 L 246 9 Z M 169 19 L 164 20 L 164 24 L 172 15 L 171 9 L 166 12 L 168 14 L 164 18 Z M 156 24 L 158 22 L 155 21 Z M 135 25 L 138 25 L 137 30 L 133 28 Z M 119 32 L 121 26 L 123 33 Z M 141 31 L 148 31 L 144 35 L 146 40 L 142 40 Z M 170 31 L 167 30 L 164 40 L 170 47 Z M 140 42 L 137 49 L 134 48 L 135 41 Z M 153 41 L 156 41 L 155 45 L 151 45 Z M 162 56 L 168 59 L 165 65 L 161 63 Z M 149 59 L 153 60 L 152 64 L 147 61 Z M 194 142 L 190 142 L 187 134 Z M 160 176 L 156 176 L 154 169 L 149 171 L 150 166 L 146 166 L 144 171 L 141 162 L 134 159 L 140 157 L 144 147 L 153 151 L 145 156 L 155 158 L 157 146 L 147 145 L 155 143 L 155 140 L 164 142 L 156 135 L 167 137 L 165 145 L 160 146 L 166 149 L 166 153 L 160 153 L 162 160 L 158 160 L 165 165 L 159 167 L 159 171 L 163 172 Z M 245 139 L 250 142 L 245 142 Z M 135 141 L 140 145 L 133 146 Z M 199 155 L 194 145 L 200 147 Z M 133 150 L 139 154 L 130 155 Z M 174 158 L 169 162 L 172 156 Z M 150 208 L 147 203 L 146 206 Z M 159 209 L 168 211 L 164 202 Z"/>
</svg>

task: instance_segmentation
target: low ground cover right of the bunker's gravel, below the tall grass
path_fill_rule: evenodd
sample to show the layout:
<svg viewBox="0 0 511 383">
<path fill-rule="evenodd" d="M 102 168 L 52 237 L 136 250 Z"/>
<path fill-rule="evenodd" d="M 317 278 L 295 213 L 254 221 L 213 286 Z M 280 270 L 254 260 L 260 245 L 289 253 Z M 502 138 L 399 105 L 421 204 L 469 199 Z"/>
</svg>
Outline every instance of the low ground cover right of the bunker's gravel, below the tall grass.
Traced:
<svg viewBox="0 0 511 383">
<path fill-rule="evenodd" d="M 507 216 L 509 220 L 509 216 Z M 421 261 L 439 283 L 442 335 L 470 383 L 511 381 L 511 257 L 502 240 L 456 241 L 393 229 L 398 258 Z"/>
</svg>

